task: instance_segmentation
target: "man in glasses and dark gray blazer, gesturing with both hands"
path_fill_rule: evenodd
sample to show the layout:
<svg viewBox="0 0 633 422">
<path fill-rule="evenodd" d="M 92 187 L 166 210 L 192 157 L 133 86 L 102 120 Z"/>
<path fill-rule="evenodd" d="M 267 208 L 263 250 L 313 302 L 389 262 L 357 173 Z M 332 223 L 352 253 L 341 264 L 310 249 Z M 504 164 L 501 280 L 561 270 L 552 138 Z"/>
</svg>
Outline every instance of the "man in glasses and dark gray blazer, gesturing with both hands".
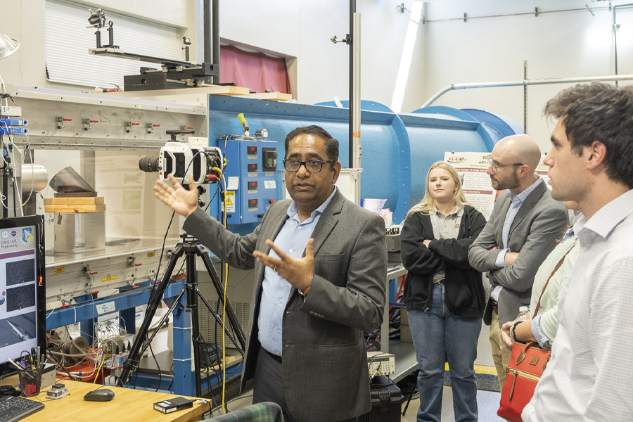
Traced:
<svg viewBox="0 0 633 422">
<path fill-rule="evenodd" d="M 335 188 L 338 141 L 321 127 L 290 132 L 283 162 L 293 200 L 246 236 L 198 208 L 193 179 L 188 191 L 158 181 L 155 196 L 222 260 L 255 268 L 242 371 L 253 402 L 276 402 L 286 421 L 356 421 L 371 410 L 363 332 L 383 320 L 385 224 Z"/>
</svg>

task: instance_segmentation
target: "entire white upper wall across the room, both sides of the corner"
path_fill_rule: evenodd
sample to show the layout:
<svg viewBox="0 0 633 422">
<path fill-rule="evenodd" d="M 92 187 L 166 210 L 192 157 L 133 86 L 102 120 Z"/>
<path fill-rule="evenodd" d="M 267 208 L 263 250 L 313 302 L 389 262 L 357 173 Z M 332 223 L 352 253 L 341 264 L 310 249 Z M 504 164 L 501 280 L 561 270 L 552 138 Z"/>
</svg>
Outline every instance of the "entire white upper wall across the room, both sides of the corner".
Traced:
<svg viewBox="0 0 633 422">
<path fill-rule="evenodd" d="M 404 1 L 411 9 L 414 0 Z M 613 1 L 624 4 L 625 0 Z M 84 2 L 88 7 L 96 4 Z M 399 13 L 402 0 L 363 0 L 362 98 L 390 106 L 402 55 L 409 13 Z M 420 25 L 411 62 L 403 112 L 419 108 L 443 87 L 464 82 L 523 79 L 523 60 L 529 78 L 611 75 L 613 15 L 607 1 L 594 2 L 593 17 L 587 0 L 437 0 L 426 3 L 428 20 Z M 592 4 L 592 3 L 590 3 Z M 45 0 L 3 0 L 2 31 L 19 39 L 18 53 L 0 60 L 0 75 L 7 83 L 51 87 L 44 76 Z M 105 0 L 104 8 L 169 23 L 192 38 L 192 60 L 203 58 L 203 6 L 201 0 Z M 538 17 L 532 13 L 539 7 Z M 580 8 L 579 11 L 546 13 Z M 345 37 L 349 27 L 347 0 L 236 0 L 221 1 L 220 35 L 238 43 L 297 57 L 301 103 L 331 101 L 348 96 L 348 47 L 330 38 Z M 461 18 L 467 13 L 469 19 Z M 484 15 L 530 13 L 499 18 Z M 633 73 L 633 8 L 618 11 L 619 70 Z M 63 48 L 63 46 L 60 46 Z M 76 89 L 63 85 L 53 87 Z M 528 132 L 544 151 L 549 148 L 552 124 L 542 118 L 544 103 L 563 85 L 528 87 Z M 452 91 L 436 105 L 481 108 L 511 117 L 523 124 L 523 88 Z"/>
</svg>

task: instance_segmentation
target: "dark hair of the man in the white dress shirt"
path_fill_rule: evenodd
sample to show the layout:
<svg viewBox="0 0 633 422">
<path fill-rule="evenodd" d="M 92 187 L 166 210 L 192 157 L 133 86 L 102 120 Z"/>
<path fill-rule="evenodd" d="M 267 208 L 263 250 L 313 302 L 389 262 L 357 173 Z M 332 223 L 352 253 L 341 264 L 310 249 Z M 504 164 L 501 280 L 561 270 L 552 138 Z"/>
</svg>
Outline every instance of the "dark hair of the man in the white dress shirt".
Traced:
<svg viewBox="0 0 633 422">
<path fill-rule="evenodd" d="M 571 148 L 600 141 L 607 176 L 633 188 L 633 87 L 592 82 L 564 89 L 547 101 L 543 114 L 563 118 Z"/>
</svg>

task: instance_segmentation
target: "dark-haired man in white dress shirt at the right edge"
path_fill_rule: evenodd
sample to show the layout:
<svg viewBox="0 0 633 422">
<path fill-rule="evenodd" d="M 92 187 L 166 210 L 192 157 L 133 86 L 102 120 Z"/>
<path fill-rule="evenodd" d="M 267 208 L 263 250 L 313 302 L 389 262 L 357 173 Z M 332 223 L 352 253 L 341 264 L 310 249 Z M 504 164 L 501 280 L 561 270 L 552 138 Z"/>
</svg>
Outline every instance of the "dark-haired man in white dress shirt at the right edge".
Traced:
<svg viewBox="0 0 633 422">
<path fill-rule="evenodd" d="M 575 200 L 580 257 L 558 300 L 551 361 L 523 421 L 632 421 L 633 89 L 584 84 L 545 106 L 558 119 L 551 196 Z"/>
</svg>

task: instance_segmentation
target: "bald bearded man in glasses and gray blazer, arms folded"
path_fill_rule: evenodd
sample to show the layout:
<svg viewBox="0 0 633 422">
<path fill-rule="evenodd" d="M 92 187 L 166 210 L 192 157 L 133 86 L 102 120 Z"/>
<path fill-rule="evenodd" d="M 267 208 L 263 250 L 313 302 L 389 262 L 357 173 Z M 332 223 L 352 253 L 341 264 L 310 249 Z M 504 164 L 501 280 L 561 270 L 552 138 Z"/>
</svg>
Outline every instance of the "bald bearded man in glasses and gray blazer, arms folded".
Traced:
<svg viewBox="0 0 633 422">
<path fill-rule="evenodd" d="M 503 192 L 468 250 L 473 268 L 488 271 L 492 284 L 483 319 L 490 325 L 501 390 L 511 351 L 501 340 L 500 328 L 516 319 L 519 307 L 530 305 L 534 276 L 568 224 L 565 205 L 551 198 L 534 172 L 540 158 L 537 143 L 528 135 L 508 136 L 494 146 L 487 173 L 492 187 Z"/>
</svg>

